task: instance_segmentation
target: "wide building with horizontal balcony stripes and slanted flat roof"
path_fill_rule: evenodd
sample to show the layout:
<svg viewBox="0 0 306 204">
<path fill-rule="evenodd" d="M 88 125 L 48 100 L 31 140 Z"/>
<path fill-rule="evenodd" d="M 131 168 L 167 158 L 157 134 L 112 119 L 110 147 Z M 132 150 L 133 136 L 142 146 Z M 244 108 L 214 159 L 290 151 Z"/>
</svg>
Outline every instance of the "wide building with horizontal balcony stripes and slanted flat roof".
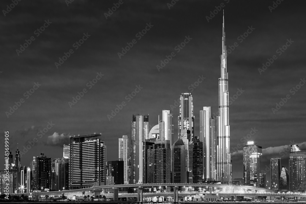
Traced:
<svg viewBox="0 0 306 204">
<path fill-rule="evenodd" d="M 103 185 L 106 166 L 106 146 L 101 134 L 70 136 L 69 188 L 89 188 Z"/>
</svg>

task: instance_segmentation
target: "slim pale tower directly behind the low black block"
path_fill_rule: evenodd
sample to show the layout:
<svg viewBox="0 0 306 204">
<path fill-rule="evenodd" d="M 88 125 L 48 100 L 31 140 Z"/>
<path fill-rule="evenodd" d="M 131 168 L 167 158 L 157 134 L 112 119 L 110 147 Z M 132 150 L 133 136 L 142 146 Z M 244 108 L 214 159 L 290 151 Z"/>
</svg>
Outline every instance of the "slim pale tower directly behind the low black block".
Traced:
<svg viewBox="0 0 306 204">
<path fill-rule="evenodd" d="M 124 161 L 123 164 L 123 180 L 124 184 L 129 184 L 129 163 L 128 163 L 128 157 L 129 157 L 129 139 L 128 135 L 123 135 L 122 138 L 118 139 L 118 148 L 119 148 L 119 161 Z"/>
</svg>

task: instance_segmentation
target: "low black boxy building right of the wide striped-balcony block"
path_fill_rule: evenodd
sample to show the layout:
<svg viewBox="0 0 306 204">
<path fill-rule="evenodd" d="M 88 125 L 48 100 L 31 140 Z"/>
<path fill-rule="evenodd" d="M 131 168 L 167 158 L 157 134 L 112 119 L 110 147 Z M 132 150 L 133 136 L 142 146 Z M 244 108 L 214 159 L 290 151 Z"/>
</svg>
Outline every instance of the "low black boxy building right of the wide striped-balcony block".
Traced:
<svg viewBox="0 0 306 204">
<path fill-rule="evenodd" d="M 124 161 L 108 161 L 107 175 L 114 177 L 114 184 L 124 184 Z"/>
</svg>

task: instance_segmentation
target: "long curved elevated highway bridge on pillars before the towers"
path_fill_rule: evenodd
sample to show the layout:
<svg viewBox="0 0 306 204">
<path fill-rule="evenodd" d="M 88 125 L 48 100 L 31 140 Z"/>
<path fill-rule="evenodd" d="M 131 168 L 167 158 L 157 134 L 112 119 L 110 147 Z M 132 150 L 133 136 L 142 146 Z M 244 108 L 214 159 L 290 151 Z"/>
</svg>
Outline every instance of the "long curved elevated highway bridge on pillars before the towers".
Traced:
<svg viewBox="0 0 306 204">
<path fill-rule="evenodd" d="M 134 188 L 137 189 L 137 193 L 134 194 L 119 194 L 118 191 L 119 188 Z M 162 193 L 143 193 L 144 188 L 151 188 L 151 187 L 172 187 L 173 192 L 162 192 Z M 178 192 L 179 187 L 186 190 L 186 188 L 193 189 L 198 188 L 199 191 L 191 192 Z M 85 194 L 85 191 L 93 191 L 94 195 L 100 195 L 101 191 L 104 189 L 110 189 L 113 188 L 114 193 L 113 194 L 103 194 L 107 195 L 107 198 L 114 198 L 114 201 L 118 201 L 118 198 L 123 197 L 137 197 L 138 202 L 141 202 L 143 200 L 143 197 L 154 197 L 154 196 L 166 196 L 166 197 L 174 197 L 174 202 L 178 202 L 179 196 L 192 196 L 196 194 L 200 195 L 212 195 L 212 189 L 214 188 L 215 192 L 218 194 L 218 199 L 220 200 L 220 197 L 223 198 L 231 198 L 233 200 L 233 197 L 236 198 L 243 198 L 243 196 L 252 197 L 252 200 L 255 199 L 255 197 L 263 198 L 263 200 L 267 199 L 269 197 L 270 199 L 276 196 L 280 197 L 306 197 L 306 194 L 299 194 L 299 195 L 293 195 L 291 194 L 279 194 L 276 193 L 274 190 L 267 189 L 267 188 L 261 188 L 256 186 L 236 186 L 236 185 L 228 185 L 228 184 L 211 184 L 211 183 L 198 183 L 198 184 L 180 184 L 180 183 L 169 183 L 169 184 L 118 184 L 118 185 L 101 185 L 101 186 L 93 186 L 89 188 L 81 188 L 81 189 L 71 189 L 71 190 L 62 190 L 62 191 L 49 191 L 49 192 L 35 192 L 35 195 L 56 195 L 61 194 L 65 195 L 67 193 L 72 192 L 82 192 L 82 194 Z M 168 188 L 169 189 L 169 188 Z M 201 192 L 201 189 L 203 189 L 203 192 Z M 208 190 L 209 192 L 204 192 L 204 190 Z M 17 193 L 12 195 L 30 195 L 30 193 Z"/>
</svg>

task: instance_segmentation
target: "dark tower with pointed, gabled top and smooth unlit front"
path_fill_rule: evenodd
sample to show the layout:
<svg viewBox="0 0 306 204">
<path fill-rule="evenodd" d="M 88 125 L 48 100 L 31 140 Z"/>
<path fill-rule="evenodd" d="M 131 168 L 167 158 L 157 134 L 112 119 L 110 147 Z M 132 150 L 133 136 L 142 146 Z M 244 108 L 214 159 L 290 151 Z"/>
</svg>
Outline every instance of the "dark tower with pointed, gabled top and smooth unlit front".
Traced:
<svg viewBox="0 0 306 204">
<path fill-rule="evenodd" d="M 185 144 L 182 139 L 177 139 L 172 147 L 172 183 L 188 183 L 189 175 L 185 169 Z"/>
</svg>

